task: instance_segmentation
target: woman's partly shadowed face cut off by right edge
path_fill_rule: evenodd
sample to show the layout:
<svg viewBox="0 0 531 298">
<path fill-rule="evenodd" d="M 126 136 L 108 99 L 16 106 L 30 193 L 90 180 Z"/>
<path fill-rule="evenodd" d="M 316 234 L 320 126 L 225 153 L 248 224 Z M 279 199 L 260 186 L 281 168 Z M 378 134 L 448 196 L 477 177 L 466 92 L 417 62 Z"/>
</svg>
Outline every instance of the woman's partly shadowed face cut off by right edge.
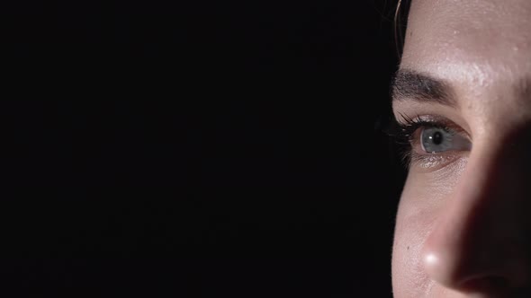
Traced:
<svg viewBox="0 0 531 298">
<path fill-rule="evenodd" d="M 531 1 L 413 0 L 397 298 L 531 297 Z"/>
</svg>

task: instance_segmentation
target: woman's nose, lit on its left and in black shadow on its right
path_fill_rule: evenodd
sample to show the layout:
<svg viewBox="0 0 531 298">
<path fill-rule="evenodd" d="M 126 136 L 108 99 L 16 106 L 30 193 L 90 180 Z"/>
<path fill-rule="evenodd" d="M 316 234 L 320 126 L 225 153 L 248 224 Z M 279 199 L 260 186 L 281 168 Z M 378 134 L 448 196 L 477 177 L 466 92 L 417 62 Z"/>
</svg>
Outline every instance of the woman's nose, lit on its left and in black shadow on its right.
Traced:
<svg viewBox="0 0 531 298">
<path fill-rule="evenodd" d="M 424 242 L 421 257 L 432 280 L 463 293 L 529 286 L 531 170 L 523 154 L 470 153 Z"/>
</svg>

